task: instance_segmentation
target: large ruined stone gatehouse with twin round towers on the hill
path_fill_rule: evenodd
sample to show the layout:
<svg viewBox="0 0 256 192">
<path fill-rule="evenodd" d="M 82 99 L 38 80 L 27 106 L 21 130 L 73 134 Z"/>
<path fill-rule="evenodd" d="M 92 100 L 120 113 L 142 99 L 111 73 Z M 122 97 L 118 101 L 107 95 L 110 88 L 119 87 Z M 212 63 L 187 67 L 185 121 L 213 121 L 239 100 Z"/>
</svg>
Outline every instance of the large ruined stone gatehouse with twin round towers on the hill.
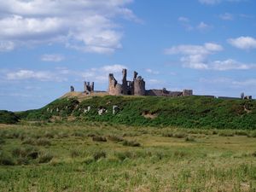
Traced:
<svg viewBox="0 0 256 192">
<path fill-rule="evenodd" d="M 112 96 L 119 95 L 134 95 L 145 96 L 145 81 L 141 76 L 137 77 L 137 72 L 134 72 L 133 81 L 127 80 L 127 69 L 123 69 L 122 84 L 113 77 L 113 73 L 108 76 L 108 93 Z"/>
</svg>

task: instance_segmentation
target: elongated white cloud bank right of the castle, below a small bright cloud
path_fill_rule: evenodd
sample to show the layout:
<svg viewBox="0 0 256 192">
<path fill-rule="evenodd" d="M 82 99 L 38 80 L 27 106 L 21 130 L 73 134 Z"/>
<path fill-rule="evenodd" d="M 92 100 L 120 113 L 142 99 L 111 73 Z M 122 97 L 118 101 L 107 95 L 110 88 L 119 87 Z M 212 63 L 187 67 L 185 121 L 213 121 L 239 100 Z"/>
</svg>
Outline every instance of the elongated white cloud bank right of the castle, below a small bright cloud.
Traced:
<svg viewBox="0 0 256 192">
<path fill-rule="evenodd" d="M 204 45 L 183 44 L 166 49 L 166 55 L 181 55 L 180 61 L 183 67 L 194 69 L 207 69 L 216 71 L 247 70 L 256 68 L 256 64 L 245 64 L 228 59 L 225 61 L 209 61 L 208 56 L 222 51 L 220 44 L 207 43 Z"/>
</svg>

